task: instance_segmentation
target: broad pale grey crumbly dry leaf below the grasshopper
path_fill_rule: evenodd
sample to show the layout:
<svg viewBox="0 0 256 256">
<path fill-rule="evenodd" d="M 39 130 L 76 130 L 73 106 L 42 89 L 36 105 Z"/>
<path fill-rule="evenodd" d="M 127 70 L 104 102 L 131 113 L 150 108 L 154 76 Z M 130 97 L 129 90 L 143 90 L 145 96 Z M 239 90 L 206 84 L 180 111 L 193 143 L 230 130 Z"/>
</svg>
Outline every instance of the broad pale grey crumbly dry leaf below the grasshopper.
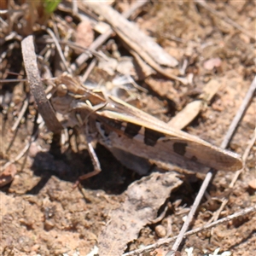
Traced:
<svg viewBox="0 0 256 256">
<path fill-rule="evenodd" d="M 176 172 L 154 172 L 132 183 L 125 192 L 122 207 L 110 213 L 110 221 L 98 238 L 99 255 L 124 253 L 127 243 L 157 217 L 166 198 L 181 183 Z"/>
</svg>

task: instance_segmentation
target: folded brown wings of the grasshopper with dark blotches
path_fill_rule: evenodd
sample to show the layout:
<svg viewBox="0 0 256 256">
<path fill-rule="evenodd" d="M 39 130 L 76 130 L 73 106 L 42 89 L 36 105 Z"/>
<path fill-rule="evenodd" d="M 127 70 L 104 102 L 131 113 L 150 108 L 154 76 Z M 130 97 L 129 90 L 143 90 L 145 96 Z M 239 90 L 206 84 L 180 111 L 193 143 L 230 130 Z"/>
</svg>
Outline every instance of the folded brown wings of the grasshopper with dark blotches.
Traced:
<svg viewBox="0 0 256 256">
<path fill-rule="evenodd" d="M 108 101 L 108 105 L 96 111 L 96 115 L 102 130 L 108 133 L 112 147 L 186 168 L 201 165 L 223 171 L 242 168 L 237 154 L 172 129 L 118 98 L 110 96 Z"/>
</svg>

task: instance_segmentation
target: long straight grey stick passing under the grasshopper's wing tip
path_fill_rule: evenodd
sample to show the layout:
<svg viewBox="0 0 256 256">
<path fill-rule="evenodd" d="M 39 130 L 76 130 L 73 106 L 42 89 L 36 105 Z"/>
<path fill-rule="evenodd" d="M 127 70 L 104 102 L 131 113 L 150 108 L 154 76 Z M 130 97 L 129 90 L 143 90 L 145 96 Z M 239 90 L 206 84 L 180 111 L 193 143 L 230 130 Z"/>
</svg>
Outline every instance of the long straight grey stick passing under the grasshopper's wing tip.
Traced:
<svg viewBox="0 0 256 256">
<path fill-rule="evenodd" d="M 233 137 L 233 135 L 236 131 L 236 127 L 241 120 L 241 117 L 247 110 L 248 103 L 251 101 L 251 99 L 253 97 L 255 87 L 256 87 L 256 77 L 253 79 L 253 83 L 251 84 L 249 90 L 247 91 L 247 95 L 245 96 L 243 102 L 241 103 L 241 107 L 239 108 L 238 112 L 236 113 L 236 116 L 233 119 L 233 121 L 229 127 L 229 130 L 226 133 L 226 136 L 224 137 L 223 143 L 221 143 L 221 146 L 220 146 L 221 148 L 226 148 L 228 146 L 230 139 Z M 213 170 L 210 170 L 210 172 L 207 173 L 207 176 L 205 177 L 204 182 L 201 184 L 201 189 L 195 198 L 195 202 L 191 208 L 191 211 L 189 212 L 188 217 L 186 218 L 186 220 L 183 224 L 182 229 L 180 230 L 180 233 L 177 237 L 177 241 L 175 241 L 175 243 L 172 246 L 173 251 L 177 251 L 177 247 L 179 247 L 181 241 L 183 240 L 183 234 L 189 228 L 189 224 L 191 223 L 191 220 L 195 215 L 195 211 L 196 211 L 197 207 L 199 206 L 201 199 L 207 189 L 207 186 L 212 179 L 213 172 L 214 172 Z"/>
</svg>

